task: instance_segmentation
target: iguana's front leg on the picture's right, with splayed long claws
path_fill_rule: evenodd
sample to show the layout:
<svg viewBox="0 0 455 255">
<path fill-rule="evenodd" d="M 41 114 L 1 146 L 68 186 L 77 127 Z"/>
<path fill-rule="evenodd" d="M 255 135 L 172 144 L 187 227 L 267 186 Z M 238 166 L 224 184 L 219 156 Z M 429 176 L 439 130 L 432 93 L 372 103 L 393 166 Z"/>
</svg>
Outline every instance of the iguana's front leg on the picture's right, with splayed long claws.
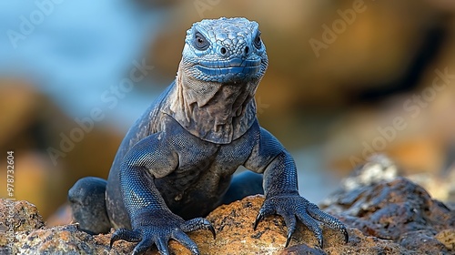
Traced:
<svg viewBox="0 0 455 255">
<path fill-rule="evenodd" d="M 345 241 L 348 241 L 348 231 L 339 219 L 300 197 L 294 160 L 277 138 L 267 130 L 260 129 L 258 146 L 248 158 L 246 167 L 264 173 L 266 199 L 254 223 L 255 230 L 260 220 L 269 215 L 278 214 L 283 217 L 288 226 L 288 240 L 285 247 L 288 247 L 290 238 L 296 230 L 297 219 L 316 235 L 320 248 L 323 246 L 322 230 L 315 219 L 339 230 L 344 235 Z"/>
</svg>

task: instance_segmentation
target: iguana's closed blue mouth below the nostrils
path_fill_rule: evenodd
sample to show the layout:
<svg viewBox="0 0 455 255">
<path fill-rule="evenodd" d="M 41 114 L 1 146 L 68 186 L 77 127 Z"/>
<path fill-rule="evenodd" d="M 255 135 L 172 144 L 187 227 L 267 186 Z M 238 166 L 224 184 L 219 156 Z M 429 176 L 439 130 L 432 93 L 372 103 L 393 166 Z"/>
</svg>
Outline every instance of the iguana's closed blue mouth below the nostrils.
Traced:
<svg viewBox="0 0 455 255">
<path fill-rule="evenodd" d="M 228 60 L 203 60 L 198 63 L 197 69 L 207 76 L 227 74 L 255 75 L 260 71 L 260 64 L 260 57 L 254 59 L 235 57 Z"/>
</svg>

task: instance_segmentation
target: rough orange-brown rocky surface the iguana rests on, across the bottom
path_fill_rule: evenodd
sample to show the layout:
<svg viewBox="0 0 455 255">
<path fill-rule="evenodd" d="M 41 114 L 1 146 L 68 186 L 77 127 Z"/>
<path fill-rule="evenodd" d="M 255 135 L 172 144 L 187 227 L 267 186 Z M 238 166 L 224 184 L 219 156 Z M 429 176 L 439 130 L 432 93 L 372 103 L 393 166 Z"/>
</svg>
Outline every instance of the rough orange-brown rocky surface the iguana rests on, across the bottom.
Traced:
<svg viewBox="0 0 455 255">
<path fill-rule="evenodd" d="M 420 186 L 408 179 L 379 180 L 353 189 L 340 189 L 322 208 L 339 217 L 349 228 L 349 242 L 335 230 L 323 227 L 324 248 L 299 224 L 289 248 L 285 249 L 286 226 L 280 217 L 269 217 L 253 230 L 253 222 L 263 196 L 252 196 L 211 212 L 207 219 L 217 230 L 213 240 L 208 231 L 190 233 L 202 254 L 453 254 L 455 253 L 455 211 L 431 199 Z M 15 239 L 0 233 L 0 253 L 24 254 L 125 254 L 135 243 L 123 240 L 109 249 L 111 233 L 89 235 L 76 224 L 46 228 L 34 205 L 25 201 L 0 199 L 5 230 L 9 209 L 13 209 Z M 174 254 L 190 254 L 170 241 Z M 153 249 L 148 254 L 157 254 Z"/>
</svg>

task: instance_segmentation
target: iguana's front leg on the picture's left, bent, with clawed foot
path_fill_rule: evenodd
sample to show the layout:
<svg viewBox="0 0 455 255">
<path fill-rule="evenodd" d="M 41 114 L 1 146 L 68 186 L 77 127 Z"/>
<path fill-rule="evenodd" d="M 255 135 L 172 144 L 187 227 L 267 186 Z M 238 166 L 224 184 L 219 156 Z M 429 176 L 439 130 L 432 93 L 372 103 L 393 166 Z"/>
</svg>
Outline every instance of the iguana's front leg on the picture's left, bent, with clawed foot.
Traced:
<svg viewBox="0 0 455 255">
<path fill-rule="evenodd" d="M 154 181 L 177 168 L 178 155 L 168 148 L 162 135 L 157 133 L 142 139 L 124 158 L 120 187 L 132 230 L 116 230 L 111 247 L 116 240 L 137 241 L 133 254 L 144 253 L 153 244 L 161 254 L 169 254 L 167 242 L 172 239 L 193 254 L 199 254 L 196 243 L 186 232 L 210 230 L 215 238 L 215 230 L 207 219 L 184 220 L 167 208 Z"/>
</svg>

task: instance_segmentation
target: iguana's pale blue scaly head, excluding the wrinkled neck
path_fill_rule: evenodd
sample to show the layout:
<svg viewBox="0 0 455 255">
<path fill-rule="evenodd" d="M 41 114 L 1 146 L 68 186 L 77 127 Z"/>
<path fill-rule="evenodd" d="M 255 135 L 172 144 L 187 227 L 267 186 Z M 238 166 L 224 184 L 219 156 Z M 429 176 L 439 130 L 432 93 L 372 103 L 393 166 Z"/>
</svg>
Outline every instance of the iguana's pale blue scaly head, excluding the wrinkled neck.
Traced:
<svg viewBox="0 0 455 255">
<path fill-rule="evenodd" d="M 205 82 L 236 83 L 264 76 L 266 47 L 258 23 L 246 18 L 205 19 L 187 30 L 182 71 Z"/>
</svg>

